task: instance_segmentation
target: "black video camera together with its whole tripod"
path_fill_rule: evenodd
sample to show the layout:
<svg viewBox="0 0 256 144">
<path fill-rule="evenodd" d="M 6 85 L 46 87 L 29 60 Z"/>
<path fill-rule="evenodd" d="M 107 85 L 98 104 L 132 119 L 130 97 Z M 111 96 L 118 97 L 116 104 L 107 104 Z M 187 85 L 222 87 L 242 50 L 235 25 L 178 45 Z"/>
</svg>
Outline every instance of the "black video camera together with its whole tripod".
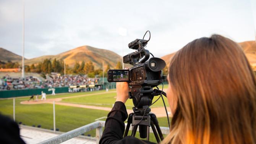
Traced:
<svg viewBox="0 0 256 144">
<path fill-rule="evenodd" d="M 149 39 L 144 40 L 147 32 L 149 32 Z M 155 58 L 152 53 L 144 48 L 151 37 L 150 31 L 147 32 L 144 34 L 143 39 L 136 39 L 128 44 L 130 49 L 135 49 L 136 51 L 125 55 L 123 63 L 129 63 L 133 67 L 129 70 L 109 70 L 107 80 L 109 82 L 126 81 L 131 87 L 131 91 L 128 94 L 129 98 L 133 99 L 134 113 L 130 113 L 128 116 L 124 137 L 127 136 L 130 125 L 133 126 L 132 136 L 135 136 L 139 126 L 139 136 L 147 138 L 147 141 L 149 141 L 149 127 L 151 126 L 157 142 L 160 143 L 160 139 L 163 140 L 164 136 L 160 130 L 156 115 L 151 113 L 151 108 L 149 107 L 152 105 L 154 96 L 160 95 L 162 97 L 162 94 L 166 96 L 165 92 L 160 91 L 157 87 L 165 79 L 162 69 L 166 64 L 164 60 Z M 150 55 L 152 55 L 152 58 L 149 59 Z M 153 90 L 153 87 L 157 87 L 157 89 Z M 165 111 L 167 112 L 166 107 Z"/>
</svg>

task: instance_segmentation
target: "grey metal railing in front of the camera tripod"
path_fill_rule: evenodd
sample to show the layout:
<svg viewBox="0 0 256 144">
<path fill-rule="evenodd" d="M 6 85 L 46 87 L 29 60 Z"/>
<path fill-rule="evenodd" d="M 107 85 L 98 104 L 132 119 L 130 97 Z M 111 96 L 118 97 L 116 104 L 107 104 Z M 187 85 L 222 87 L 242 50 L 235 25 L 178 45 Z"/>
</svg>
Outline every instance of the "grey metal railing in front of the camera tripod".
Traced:
<svg viewBox="0 0 256 144">
<path fill-rule="evenodd" d="M 125 126 L 127 123 L 125 123 Z M 105 121 L 95 121 L 93 123 L 89 123 L 88 125 L 81 126 L 79 128 L 73 129 L 72 131 L 68 131 L 66 133 L 60 134 L 53 138 L 47 139 L 45 141 L 39 142 L 38 144 L 60 144 L 64 141 L 69 139 L 75 138 L 83 133 L 91 131 L 92 129 L 96 129 L 96 143 L 99 144 L 99 140 L 102 136 L 102 128 L 105 126 Z M 160 127 L 163 134 L 169 134 L 170 130 L 168 127 Z M 130 127 L 130 130 L 132 128 Z M 137 129 L 139 131 L 139 129 Z M 152 129 L 150 128 L 150 133 L 153 133 Z"/>
</svg>

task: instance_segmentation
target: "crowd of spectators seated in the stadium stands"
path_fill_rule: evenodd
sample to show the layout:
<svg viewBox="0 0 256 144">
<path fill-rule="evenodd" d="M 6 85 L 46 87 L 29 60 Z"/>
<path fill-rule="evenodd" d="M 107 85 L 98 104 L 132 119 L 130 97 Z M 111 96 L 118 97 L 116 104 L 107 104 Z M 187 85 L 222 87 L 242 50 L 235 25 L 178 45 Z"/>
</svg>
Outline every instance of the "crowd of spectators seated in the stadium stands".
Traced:
<svg viewBox="0 0 256 144">
<path fill-rule="evenodd" d="M 27 76 L 25 78 L 12 78 L 8 74 L 0 78 L 0 91 L 10 89 L 34 89 L 51 88 L 64 86 L 81 86 L 89 84 L 99 84 L 100 78 L 87 78 L 86 75 L 66 75 L 64 78 L 60 74 L 47 75 L 44 80 L 36 76 Z"/>
</svg>

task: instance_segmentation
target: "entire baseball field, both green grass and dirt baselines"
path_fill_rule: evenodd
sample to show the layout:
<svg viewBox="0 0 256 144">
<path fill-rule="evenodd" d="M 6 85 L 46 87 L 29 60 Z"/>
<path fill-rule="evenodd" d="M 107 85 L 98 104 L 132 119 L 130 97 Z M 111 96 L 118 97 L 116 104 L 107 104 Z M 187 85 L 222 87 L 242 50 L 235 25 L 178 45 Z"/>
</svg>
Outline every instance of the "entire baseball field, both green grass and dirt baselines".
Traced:
<svg viewBox="0 0 256 144">
<path fill-rule="evenodd" d="M 167 85 L 164 86 L 164 89 Z M 159 96 L 154 97 L 153 102 Z M 46 100 L 29 100 L 29 97 L 15 98 L 15 121 L 22 122 L 23 125 L 38 126 L 41 128 L 53 128 L 53 101 L 55 101 L 55 119 L 56 128 L 59 131 L 66 132 L 80 126 L 87 125 L 105 117 L 111 110 L 116 99 L 115 89 L 106 92 L 104 90 L 95 92 L 76 92 L 58 95 L 47 95 Z M 164 97 L 169 111 L 169 104 Z M 126 102 L 128 113 L 132 112 L 133 103 L 131 99 Z M 160 126 L 168 127 L 166 113 L 163 102 L 160 98 L 151 106 L 159 120 Z M 0 113 L 13 118 L 13 99 L 0 100 Z M 102 118 L 103 117 L 103 118 Z M 95 129 L 85 133 L 85 135 L 95 136 Z M 138 134 L 138 133 L 137 133 Z M 151 134 L 151 141 L 156 141 Z"/>
</svg>

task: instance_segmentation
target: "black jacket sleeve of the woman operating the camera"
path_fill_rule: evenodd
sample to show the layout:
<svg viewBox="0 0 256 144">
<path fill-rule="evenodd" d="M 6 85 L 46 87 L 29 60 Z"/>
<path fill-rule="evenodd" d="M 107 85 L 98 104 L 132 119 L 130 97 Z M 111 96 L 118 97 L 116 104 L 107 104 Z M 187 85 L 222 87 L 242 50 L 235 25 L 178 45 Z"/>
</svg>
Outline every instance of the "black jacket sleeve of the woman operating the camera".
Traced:
<svg viewBox="0 0 256 144">
<path fill-rule="evenodd" d="M 127 117 L 125 104 L 123 102 L 115 102 L 114 107 L 107 116 L 105 129 L 99 144 L 155 144 L 132 136 L 123 138 L 125 131 L 124 121 Z"/>
</svg>

